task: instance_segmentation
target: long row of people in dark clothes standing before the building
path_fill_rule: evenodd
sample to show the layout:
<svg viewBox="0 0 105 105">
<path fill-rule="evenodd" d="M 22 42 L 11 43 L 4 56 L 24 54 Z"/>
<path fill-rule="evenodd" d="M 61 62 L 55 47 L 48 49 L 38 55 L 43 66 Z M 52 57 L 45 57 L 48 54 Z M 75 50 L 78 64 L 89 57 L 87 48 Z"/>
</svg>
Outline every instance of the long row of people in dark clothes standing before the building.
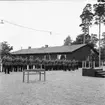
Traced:
<svg viewBox="0 0 105 105">
<path fill-rule="evenodd" d="M 33 65 L 36 68 L 42 67 L 46 71 L 51 70 L 64 70 L 64 71 L 71 71 L 76 70 L 79 67 L 79 63 L 76 60 L 26 60 L 26 59 L 10 59 L 6 58 L 3 62 L 3 71 L 5 73 L 10 73 L 10 71 L 23 71 L 27 69 L 27 65 L 29 69 L 33 69 Z"/>
</svg>

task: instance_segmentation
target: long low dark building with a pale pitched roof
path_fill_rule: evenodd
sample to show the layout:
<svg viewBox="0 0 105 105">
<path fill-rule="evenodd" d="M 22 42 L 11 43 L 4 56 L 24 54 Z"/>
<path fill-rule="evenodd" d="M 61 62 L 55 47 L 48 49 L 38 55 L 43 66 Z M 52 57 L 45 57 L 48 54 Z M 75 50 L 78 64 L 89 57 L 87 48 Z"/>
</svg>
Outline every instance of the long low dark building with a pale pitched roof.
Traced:
<svg viewBox="0 0 105 105">
<path fill-rule="evenodd" d="M 69 46 L 55 46 L 49 47 L 45 46 L 42 48 L 28 48 L 21 49 L 12 52 L 14 56 L 22 57 L 33 57 L 39 59 L 66 59 L 66 60 L 78 60 L 83 61 L 89 59 L 89 56 L 93 52 L 95 54 L 95 59 L 98 60 L 98 52 L 88 44 L 78 44 Z"/>
</svg>

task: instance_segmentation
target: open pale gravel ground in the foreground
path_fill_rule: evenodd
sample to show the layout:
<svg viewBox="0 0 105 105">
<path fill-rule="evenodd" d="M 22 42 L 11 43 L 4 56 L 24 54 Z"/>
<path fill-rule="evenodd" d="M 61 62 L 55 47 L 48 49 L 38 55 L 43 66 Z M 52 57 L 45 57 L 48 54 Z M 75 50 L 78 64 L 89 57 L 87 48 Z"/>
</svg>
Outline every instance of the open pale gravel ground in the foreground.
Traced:
<svg viewBox="0 0 105 105">
<path fill-rule="evenodd" d="M 0 105 L 105 105 L 105 78 L 84 77 L 81 69 L 47 71 L 45 82 L 31 75 L 23 83 L 22 76 L 0 73 Z"/>
</svg>

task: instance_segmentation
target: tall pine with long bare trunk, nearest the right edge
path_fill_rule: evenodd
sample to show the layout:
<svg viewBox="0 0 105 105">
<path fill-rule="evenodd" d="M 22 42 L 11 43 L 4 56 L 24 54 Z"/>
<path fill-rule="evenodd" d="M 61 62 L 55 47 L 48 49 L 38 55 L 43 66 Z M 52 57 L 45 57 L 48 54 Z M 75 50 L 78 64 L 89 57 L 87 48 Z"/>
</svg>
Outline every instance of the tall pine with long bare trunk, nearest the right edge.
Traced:
<svg viewBox="0 0 105 105">
<path fill-rule="evenodd" d="M 99 67 L 101 66 L 101 23 L 105 23 L 105 3 L 94 4 L 95 24 L 99 25 Z"/>
</svg>

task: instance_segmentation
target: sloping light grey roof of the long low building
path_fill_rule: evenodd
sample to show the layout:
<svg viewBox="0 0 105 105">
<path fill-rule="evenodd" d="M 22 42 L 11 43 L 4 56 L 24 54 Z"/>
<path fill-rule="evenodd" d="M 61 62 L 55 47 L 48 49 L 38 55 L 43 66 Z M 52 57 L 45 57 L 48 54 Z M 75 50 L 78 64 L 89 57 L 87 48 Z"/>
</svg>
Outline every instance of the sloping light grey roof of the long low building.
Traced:
<svg viewBox="0 0 105 105">
<path fill-rule="evenodd" d="M 78 44 L 71 46 L 55 46 L 55 47 L 42 47 L 42 48 L 29 48 L 29 49 L 21 49 L 12 54 L 43 54 L 43 53 L 67 53 L 73 52 L 81 47 L 86 46 L 86 44 Z"/>
</svg>

